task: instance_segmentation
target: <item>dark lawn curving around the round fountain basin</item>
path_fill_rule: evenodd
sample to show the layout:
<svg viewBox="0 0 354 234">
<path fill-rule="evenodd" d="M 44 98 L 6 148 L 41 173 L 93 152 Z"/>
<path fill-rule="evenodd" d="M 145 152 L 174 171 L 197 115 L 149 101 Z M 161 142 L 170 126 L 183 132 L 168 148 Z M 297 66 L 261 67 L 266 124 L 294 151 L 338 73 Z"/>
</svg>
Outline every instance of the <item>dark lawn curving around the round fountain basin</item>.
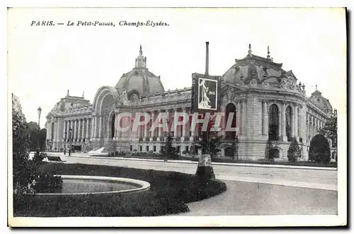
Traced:
<svg viewBox="0 0 354 234">
<path fill-rule="evenodd" d="M 200 201 L 224 192 L 218 180 L 198 181 L 195 175 L 105 165 L 42 163 L 42 172 L 57 175 L 96 175 L 144 180 L 151 187 L 135 194 L 100 194 L 96 196 L 60 196 L 38 199 L 31 196 L 14 202 L 14 216 L 163 216 L 188 211 L 186 203 Z"/>
</svg>

